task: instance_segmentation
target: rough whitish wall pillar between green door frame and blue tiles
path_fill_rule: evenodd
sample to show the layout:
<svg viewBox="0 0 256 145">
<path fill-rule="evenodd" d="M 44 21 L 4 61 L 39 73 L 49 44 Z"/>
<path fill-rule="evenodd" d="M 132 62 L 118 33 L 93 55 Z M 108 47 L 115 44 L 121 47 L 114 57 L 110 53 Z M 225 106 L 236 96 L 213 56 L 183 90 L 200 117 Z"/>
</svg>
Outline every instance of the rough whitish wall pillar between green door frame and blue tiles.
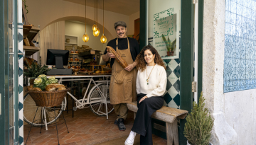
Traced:
<svg viewBox="0 0 256 145">
<path fill-rule="evenodd" d="M 223 93 L 225 0 L 204 1 L 203 96 L 214 118 L 213 144 L 234 144 L 238 134 L 225 120 Z M 231 103 L 230 103 L 231 105 Z"/>
</svg>

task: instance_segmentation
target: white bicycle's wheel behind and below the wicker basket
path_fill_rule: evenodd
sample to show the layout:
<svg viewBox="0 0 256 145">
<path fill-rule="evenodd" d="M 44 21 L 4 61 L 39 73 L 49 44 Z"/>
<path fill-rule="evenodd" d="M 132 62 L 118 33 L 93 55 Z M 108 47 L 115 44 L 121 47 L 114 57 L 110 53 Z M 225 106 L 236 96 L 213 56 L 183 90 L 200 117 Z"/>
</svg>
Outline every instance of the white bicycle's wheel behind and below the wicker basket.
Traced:
<svg viewBox="0 0 256 145">
<path fill-rule="evenodd" d="M 55 119 L 58 119 L 62 110 L 65 110 L 66 105 L 67 105 L 67 100 L 66 98 L 64 98 L 61 105 L 59 107 L 55 107 L 55 114 L 56 114 L 56 118 L 55 118 L 53 108 L 38 107 L 38 111 L 36 112 L 36 109 L 37 109 L 36 103 L 33 100 L 33 98 L 31 98 L 31 95 L 27 93 L 24 96 L 24 102 L 23 102 L 23 119 L 28 124 L 32 124 L 33 117 L 36 115 L 33 125 L 41 126 L 45 124 L 44 118 L 46 115 L 47 124 L 51 124 L 55 122 Z M 42 118 L 43 118 L 43 121 L 41 120 Z"/>
</svg>

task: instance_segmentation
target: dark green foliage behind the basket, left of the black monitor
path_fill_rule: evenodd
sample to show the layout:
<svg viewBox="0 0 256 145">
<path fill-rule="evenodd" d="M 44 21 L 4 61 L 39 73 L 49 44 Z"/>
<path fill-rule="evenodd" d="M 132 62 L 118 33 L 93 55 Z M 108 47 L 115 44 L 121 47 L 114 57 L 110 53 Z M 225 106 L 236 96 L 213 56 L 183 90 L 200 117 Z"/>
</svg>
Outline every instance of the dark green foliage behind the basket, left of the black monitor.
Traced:
<svg viewBox="0 0 256 145">
<path fill-rule="evenodd" d="M 46 65 L 41 66 L 41 64 L 36 64 L 35 62 L 32 62 L 31 67 L 28 67 L 28 71 L 24 71 L 24 76 L 36 78 L 40 74 L 46 74 L 48 71 L 48 67 Z"/>
</svg>

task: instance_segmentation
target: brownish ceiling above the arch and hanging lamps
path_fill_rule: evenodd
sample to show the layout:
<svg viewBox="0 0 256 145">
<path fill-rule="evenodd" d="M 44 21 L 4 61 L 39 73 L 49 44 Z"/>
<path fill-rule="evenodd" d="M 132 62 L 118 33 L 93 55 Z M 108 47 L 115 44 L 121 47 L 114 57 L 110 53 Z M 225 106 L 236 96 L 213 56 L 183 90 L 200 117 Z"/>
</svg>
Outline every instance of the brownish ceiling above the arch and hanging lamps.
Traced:
<svg viewBox="0 0 256 145">
<path fill-rule="evenodd" d="M 75 4 L 85 5 L 85 0 L 63 0 Z M 86 6 L 95 7 L 95 1 L 98 1 L 98 8 L 103 8 L 103 0 L 87 0 Z M 105 0 L 104 9 L 114 13 L 122 13 L 124 15 L 132 15 L 139 11 L 139 0 Z"/>
</svg>

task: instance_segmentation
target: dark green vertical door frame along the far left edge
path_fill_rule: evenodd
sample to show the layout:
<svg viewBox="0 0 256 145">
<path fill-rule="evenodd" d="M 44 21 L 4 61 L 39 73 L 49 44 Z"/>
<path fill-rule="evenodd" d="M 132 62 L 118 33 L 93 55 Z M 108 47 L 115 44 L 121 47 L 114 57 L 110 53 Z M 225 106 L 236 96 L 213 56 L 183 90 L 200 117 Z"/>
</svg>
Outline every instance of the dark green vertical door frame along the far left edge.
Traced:
<svg viewBox="0 0 256 145">
<path fill-rule="evenodd" d="M 0 1 L 0 144 L 9 144 L 8 0 Z"/>
</svg>

